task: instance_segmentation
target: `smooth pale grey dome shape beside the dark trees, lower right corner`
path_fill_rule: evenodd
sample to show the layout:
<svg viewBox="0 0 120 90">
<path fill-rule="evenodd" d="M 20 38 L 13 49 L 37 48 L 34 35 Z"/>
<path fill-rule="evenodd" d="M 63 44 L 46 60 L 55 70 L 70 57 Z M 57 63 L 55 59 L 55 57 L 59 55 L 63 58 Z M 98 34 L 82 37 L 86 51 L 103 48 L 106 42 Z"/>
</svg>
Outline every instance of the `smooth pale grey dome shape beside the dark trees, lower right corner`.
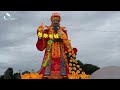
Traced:
<svg viewBox="0 0 120 90">
<path fill-rule="evenodd" d="M 108 66 L 95 71 L 91 79 L 120 79 L 120 67 Z"/>
</svg>

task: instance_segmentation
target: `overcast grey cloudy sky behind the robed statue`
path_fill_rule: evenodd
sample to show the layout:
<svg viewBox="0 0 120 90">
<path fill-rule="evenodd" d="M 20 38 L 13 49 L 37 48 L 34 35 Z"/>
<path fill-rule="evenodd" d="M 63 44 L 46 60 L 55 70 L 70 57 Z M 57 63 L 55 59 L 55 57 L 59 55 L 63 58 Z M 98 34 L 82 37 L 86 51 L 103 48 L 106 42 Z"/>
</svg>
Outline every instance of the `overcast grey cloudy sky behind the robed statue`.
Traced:
<svg viewBox="0 0 120 90">
<path fill-rule="evenodd" d="M 50 25 L 54 11 L 0 11 L 0 75 L 38 71 L 44 51 L 36 48 L 38 26 Z M 77 59 L 99 67 L 120 66 L 119 11 L 59 11 Z"/>
</svg>

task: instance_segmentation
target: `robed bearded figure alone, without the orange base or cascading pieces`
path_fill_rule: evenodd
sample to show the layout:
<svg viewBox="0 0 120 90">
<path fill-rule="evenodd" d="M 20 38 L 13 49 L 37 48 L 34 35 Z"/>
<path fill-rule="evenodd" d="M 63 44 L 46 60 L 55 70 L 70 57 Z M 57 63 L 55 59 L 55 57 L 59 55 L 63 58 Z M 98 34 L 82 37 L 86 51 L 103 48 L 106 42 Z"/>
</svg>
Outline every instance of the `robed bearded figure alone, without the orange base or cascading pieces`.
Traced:
<svg viewBox="0 0 120 90">
<path fill-rule="evenodd" d="M 51 25 L 44 27 L 42 23 L 37 29 L 36 47 L 39 51 L 45 50 L 39 70 L 39 74 L 42 74 L 43 78 L 67 78 L 69 74 L 67 54 L 73 58 L 76 57 L 77 49 L 71 46 L 67 30 L 60 26 L 60 21 L 60 14 L 53 13 Z"/>
</svg>

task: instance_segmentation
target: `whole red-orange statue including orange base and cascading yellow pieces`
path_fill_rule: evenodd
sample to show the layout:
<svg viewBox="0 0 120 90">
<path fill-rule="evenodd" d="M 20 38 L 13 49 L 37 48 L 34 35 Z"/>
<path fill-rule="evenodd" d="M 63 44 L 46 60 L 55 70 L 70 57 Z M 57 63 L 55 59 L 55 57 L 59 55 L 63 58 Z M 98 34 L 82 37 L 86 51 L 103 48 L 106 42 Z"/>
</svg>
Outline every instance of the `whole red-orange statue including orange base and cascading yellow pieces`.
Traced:
<svg viewBox="0 0 120 90">
<path fill-rule="evenodd" d="M 21 75 L 22 79 L 89 79 L 76 59 L 77 48 L 73 48 L 65 27 L 60 26 L 61 16 L 53 13 L 51 25 L 37 29 L 36 48 L 45 50 L 38 73 Z"/>
</svg>

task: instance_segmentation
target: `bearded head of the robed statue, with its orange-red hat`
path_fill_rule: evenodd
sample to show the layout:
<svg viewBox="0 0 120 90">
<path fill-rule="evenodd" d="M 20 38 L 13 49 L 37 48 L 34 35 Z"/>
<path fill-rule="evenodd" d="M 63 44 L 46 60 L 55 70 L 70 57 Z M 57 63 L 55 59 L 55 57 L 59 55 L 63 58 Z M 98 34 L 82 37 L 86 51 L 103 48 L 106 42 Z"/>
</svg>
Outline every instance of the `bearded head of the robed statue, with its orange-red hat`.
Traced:
<svg viewBox="0 0 120 90">
<path fill-rule="evenodd" d="M 52 22 L 51 25 L 53 26 L 54 30 L 58 30 L 59 29 L 60 21 L 61 21 L 60 14 L 53 13 L 52 16 L 51 16 L 51 22 Z"/>
</svg>

